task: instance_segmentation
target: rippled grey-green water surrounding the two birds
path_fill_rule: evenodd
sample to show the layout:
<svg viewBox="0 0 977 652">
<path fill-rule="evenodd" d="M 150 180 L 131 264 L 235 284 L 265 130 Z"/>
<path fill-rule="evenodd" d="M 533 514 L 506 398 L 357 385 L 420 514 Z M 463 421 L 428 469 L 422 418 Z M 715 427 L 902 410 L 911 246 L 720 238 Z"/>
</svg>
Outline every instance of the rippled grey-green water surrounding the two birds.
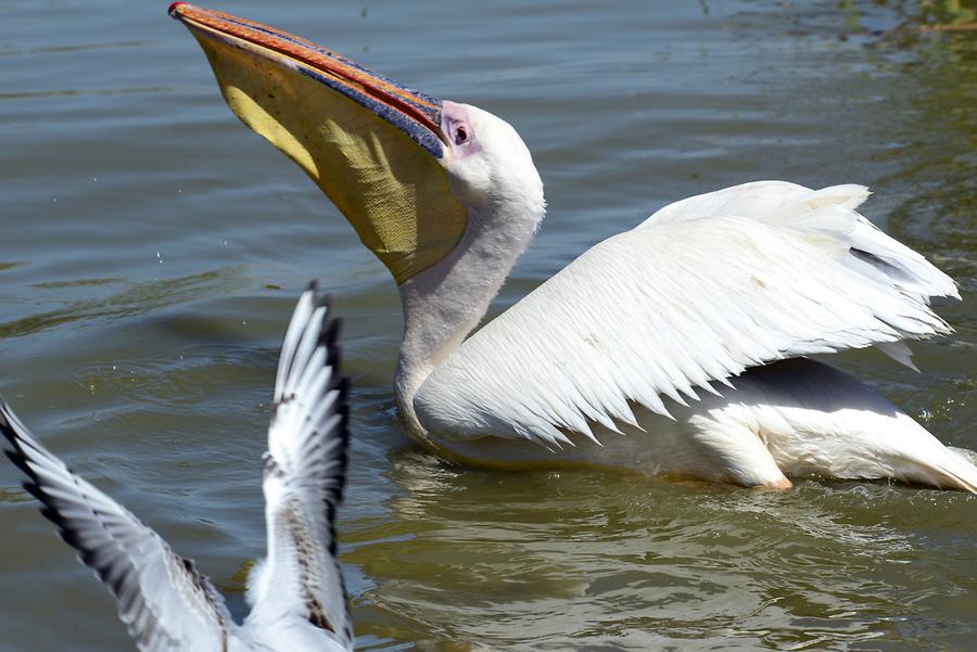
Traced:
<svg viewBox="0 0 977 652">
<path fill-rule="evenodd" d="M 926 15 L 922 5 L 934 5 Z M 166 2 L 0 1 L 0 393 L 245 611 L 282 330 L 345 318 L 342 561 L 364 650 L 967 650 L 977 499 L 452 468 L 405 442 L 393 282 L 220 100 Z M 782 178 L 961 284 L 922 374 L 834 361 L 977 448 L 974 2 L 214 3 L 505 116 L 549 212 L 493 314 L 663 204 Z M 970 12 L 967 14 L 967 12 Z M 114 604 L 0 465 L 0 650 L 128 650 Z"/>
</svg>

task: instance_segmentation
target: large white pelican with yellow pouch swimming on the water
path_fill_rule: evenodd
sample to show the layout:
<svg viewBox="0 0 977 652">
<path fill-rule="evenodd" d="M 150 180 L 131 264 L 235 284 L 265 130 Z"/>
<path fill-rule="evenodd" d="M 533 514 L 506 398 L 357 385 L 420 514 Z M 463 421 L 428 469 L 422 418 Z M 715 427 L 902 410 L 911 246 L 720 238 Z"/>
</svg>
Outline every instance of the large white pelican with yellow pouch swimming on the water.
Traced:
<svg viewBox="0 0 977 652">
<path fill-rule="evenodd" d="M 865 188 L 760 181 L 671 204 L 475 331 L 545 212 L 516 130 L 274 27 L 183 2 L 169 13 L 233 113 L 390 270 L 398 412 L 435 453 L 977 491 L 963 452 L 808 357 L 875 346 L 912 366 L 906 341 L 951 332 L 929 298 L 959 298 L 954 282 L 857 212 Z"/>
</svg>

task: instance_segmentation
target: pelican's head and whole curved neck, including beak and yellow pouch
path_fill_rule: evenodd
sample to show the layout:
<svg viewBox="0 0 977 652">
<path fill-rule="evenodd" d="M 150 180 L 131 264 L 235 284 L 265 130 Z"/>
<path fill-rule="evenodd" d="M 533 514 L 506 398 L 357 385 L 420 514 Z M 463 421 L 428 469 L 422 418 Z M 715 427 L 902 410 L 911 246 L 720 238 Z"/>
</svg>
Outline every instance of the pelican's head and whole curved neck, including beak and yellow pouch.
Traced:
<svg viewBox="0 0 977 652">
<path fill-rule="evenodd" d="M 393 274 L 404 310 L 395 391 L 413 397 L 484 317 L 545 212 L 516 130 L 299 37 L 177 2 L 230 108 L 308 174 Z M 430 440 L 428 440 L 430 444 Z"/>
</svg>

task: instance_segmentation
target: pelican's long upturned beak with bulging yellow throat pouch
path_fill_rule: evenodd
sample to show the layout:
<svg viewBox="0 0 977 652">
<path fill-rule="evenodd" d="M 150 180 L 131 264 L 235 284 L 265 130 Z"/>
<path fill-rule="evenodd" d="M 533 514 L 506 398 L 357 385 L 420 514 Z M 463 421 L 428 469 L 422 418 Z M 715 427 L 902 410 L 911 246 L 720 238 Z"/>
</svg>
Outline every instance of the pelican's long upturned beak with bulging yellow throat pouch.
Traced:
<svg viewBox="0 0 977 652">
<path fill-rule="evenodd" d="M 442 163 L 441 100 L 307 40 L 175 2 L 231 111 L 308 174 L 397 283 L 444 258 L 467 214 Z"/>
</svg>

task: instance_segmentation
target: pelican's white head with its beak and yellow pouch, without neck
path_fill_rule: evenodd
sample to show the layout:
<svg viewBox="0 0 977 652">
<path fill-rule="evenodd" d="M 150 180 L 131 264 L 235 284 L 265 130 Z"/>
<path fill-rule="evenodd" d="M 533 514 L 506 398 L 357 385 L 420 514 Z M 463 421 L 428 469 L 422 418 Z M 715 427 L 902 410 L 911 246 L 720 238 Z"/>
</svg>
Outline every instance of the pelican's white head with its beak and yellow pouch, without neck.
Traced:
<svg viewBox="0 0 977 652">
<path fill-rule="evenodd" d="M 313 178 L 397 284 L 449 258 L 494 208 L 529 206 L 509 226 L 530 234 L 542 219 L 540 176 L 505 120 L 272 27 L 186 2 L 169 13 L 234 114 Z"/>
</svg>

